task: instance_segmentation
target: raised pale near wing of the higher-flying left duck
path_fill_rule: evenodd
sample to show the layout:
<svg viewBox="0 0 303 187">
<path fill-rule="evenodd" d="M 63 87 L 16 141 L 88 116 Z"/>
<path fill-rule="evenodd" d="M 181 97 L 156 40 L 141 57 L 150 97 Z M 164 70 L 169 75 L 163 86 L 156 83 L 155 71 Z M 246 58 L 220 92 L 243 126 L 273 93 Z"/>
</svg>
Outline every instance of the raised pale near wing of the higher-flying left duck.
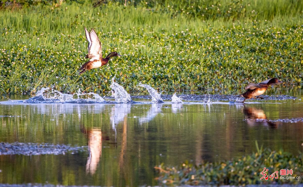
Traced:
<svg viewBox="0 0 303 187">
<path fill-rule="evenodd" d="M 102 58 L 102 46 L 98 35 L 96 34 L 94 29 L 92 29 L 88 33 L 88 35 L 91 41 L 91 44 L 88 49 L 88 58 L 90 58 L 90 61 L 100 60 Z"/>
</svg>

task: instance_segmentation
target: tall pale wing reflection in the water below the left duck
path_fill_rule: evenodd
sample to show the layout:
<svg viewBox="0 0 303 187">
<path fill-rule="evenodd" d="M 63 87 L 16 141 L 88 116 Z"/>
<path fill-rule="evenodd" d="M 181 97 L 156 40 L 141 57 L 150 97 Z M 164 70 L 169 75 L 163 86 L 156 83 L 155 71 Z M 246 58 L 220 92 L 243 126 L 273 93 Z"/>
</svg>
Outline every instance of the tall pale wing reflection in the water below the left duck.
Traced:
<svg viewBox="0 0 303 187">
<path fill-rule="evenodd" d="M 86 163 L 86 173 L 94 174 L 102 154 L 102 132 L 100 128 L 87 131 L 89 156 Z"/>
</svg>

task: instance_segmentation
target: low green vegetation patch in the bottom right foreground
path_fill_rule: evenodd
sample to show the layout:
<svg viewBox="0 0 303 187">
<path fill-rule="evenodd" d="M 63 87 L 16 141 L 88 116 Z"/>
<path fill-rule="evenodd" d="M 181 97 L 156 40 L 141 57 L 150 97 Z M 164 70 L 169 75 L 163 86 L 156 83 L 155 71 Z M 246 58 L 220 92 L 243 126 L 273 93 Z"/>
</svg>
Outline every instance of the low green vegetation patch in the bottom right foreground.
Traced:
<svg viewBox="0 0 303 187">
<path fill-rule="evenodd" d="M 256 153 L 225 162 L 202 162 L 193 166 L 184 162 L 179 167 L 155 166 L 157 180 L 162 185 L 249 185 L 249 184 L 301 184 L 303 154 L 258 149 Z M 266 167 L 269 176 L 278 171 L 278 179 L 262 179 L 260 172 Z M 293 170 L 295 179 L 281 179 L 280 170 Z M 300 177 L 300 179 L 296 179 Z"/>
</svg>

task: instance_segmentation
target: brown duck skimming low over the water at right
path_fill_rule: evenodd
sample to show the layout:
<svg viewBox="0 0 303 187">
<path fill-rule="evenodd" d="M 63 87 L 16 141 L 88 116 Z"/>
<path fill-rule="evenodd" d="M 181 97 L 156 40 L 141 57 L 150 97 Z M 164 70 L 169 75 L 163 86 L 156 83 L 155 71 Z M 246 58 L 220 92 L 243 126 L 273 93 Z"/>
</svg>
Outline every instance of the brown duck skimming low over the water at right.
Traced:
<svg viewBox="0 0 303 187">
<path fill-rule="evenodd" d="M 263 97 L 259 97 L 259 95 L 262 95 L 269 86 L 275 85 L 275 84 L 280 84 L 280 83 L 282 83 L 282 81 L 278 80 L 277 78 L 268 79 L 259 84 L 249 83 L 245 87 L 245 90 L 247 90 L 247 91 L 240 95 L 241 97 L 244 97 L 244 100 L 242 102 L 244 103 L 244 101 L 246 99 L 251 99 L 251 98 L 263 99 Z"/>
</svg>

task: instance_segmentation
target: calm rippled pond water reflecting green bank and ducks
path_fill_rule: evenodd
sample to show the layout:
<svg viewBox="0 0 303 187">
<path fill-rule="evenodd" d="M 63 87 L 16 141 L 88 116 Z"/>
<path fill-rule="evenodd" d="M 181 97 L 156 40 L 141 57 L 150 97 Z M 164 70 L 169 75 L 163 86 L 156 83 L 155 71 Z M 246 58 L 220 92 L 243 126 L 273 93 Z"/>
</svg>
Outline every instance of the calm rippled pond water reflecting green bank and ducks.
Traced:
<svg viewBox="0 0 303 187">
<path fill-rule="evenodd" d="M 197 93 L 183 95 L 184 103 L 167 101 L 172 95 L 161 95 L 164 103 L 133 96 L 141 102 L 133 104 L 32 104 L 3 98 L 0 143 L 21 152 L 0 155 L 0 183 L 158 185 L 153 167 L 161 162 L 178 166 L 185 160 L 231 159 L 255 151 L 255 140 L 297 154 L 303 151 L 302 93 L 269 90 L 271 97 L 247 104 L 232 103 L 236 94 Z M 15 142 L 85 149 L 27 156 Z"/>
</svg>

